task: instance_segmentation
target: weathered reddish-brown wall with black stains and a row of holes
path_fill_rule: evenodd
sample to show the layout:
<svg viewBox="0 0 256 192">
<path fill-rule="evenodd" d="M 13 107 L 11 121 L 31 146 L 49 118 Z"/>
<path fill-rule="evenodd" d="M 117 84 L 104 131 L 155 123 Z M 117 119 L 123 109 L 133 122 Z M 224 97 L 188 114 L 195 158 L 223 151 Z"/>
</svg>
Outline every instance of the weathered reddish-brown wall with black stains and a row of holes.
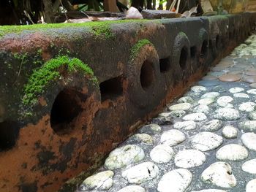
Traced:
<svg viewBox="0 0 256 192">
<path fill-rule="evenodd" d="M 242 42 L 255 18 L 243 13 L 111 23 L 113 37 L 102 39 L 87 27 L 1 37 L 0 191 L 56 191 L 82 171 L 86 177 L 143 121 Z M 140 39 L 151 44 L 132 57 Z M 24 85 L 33 70 L 57 55 L 88 64 L 99 85 L 63 72 L 24 117 Z"/>
</svg>

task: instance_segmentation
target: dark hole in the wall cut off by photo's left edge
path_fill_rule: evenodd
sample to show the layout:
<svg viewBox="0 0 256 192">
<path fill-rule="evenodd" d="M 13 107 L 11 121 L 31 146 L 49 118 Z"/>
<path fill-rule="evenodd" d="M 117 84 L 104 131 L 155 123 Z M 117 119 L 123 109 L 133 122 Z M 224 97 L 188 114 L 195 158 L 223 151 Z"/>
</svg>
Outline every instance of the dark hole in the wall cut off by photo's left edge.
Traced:
<svg viewBox="0 0 256 192">
<path fill-rule="evenodd" d="M 14 121 L 4 121 L 0 123 L 0 150 L 8 150 L 16 144 L 19 127 Z"/>
</svg>

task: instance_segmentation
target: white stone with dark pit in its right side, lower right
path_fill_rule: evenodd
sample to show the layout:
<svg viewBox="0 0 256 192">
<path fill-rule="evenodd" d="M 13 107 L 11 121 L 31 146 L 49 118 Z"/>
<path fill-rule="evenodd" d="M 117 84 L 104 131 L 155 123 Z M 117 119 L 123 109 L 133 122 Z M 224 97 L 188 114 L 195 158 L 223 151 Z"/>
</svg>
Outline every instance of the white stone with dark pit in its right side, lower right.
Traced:
<svg viewBox="0 0 256 192">
<path fill-rule="evenodd" d="M 221 188 L 233 188 L 236 186 L 236 177 L 232 168 L 225 162 L 216 162 L 208 166 L 201 176 L 203 182 L 217 185 Z"/>
</svg>

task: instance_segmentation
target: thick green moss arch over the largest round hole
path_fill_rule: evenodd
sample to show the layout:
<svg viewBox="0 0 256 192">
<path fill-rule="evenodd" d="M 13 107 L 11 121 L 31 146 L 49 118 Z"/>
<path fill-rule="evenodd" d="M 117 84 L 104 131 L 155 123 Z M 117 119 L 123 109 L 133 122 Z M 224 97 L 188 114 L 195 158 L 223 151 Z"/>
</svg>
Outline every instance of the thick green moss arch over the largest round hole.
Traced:
<svg viewBox="0 0 256 192">
<path fill-rule="evenodd" d="M 50 82 L 61 77 L 58 69 L 64 66 L 67 72 L 83 72 L 91 77 L 94 83 L 97 82 L 97 78 L 94 76 L 92 69 L 83 64 L 78 58 L 69 58 L 67 55 L 53 58 L 47 61 L 40 69 L 37 69 L 29 77 L 29 82 L 24 86 L 23 104 L 34 105 L 37 104 L 37 96 L 40 93 L 45 92 L 45 88 Z"/>
</svg>

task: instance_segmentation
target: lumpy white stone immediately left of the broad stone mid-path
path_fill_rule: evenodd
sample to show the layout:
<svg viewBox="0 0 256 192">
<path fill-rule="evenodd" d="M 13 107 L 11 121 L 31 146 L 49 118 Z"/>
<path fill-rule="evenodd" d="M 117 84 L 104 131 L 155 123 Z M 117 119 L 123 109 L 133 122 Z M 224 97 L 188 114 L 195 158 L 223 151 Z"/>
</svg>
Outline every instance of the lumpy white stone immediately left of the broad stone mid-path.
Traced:
<svg viewBox="0 0 256 192">
<path fill-rule="evenodd" d="M 181 131 L 177 129 L 171 129 L 170 131 L 165 131 L 161 136 L 161 143 L 169 145 L 169 146 L 176 146 L 181 142 L 186 140 L 186 136 Z"/>
</svg>

